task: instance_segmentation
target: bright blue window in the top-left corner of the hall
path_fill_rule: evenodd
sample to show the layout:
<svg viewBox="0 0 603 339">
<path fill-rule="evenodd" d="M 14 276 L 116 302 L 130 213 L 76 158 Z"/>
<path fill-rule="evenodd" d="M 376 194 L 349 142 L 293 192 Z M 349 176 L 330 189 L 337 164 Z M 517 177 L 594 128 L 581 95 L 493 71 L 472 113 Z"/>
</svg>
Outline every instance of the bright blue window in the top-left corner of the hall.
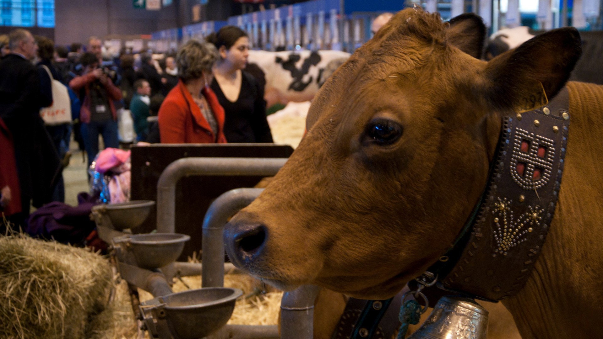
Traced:
<svg viewBox="0 0 603 339">
<path fill-rule="evenodd" d="M 54 27 L 54 0 L 1 0 L 0 25 Z"/>
</svg>

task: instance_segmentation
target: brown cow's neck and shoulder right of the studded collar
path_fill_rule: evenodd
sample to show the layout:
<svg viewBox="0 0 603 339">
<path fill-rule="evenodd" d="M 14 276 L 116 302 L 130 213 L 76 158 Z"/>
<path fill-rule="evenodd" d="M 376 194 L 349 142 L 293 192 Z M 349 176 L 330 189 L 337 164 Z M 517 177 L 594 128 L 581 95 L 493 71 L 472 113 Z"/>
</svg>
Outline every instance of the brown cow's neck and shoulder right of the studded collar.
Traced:
<svg viewBox="0 0 603 339">
<path fill-rule="evenodd" d="M 603 86 L 567 88 L 570 126 L 555 216 L 525 287 L 505 306 L 523 334 L 595 338 L 603 314 Z"/>
</svg>

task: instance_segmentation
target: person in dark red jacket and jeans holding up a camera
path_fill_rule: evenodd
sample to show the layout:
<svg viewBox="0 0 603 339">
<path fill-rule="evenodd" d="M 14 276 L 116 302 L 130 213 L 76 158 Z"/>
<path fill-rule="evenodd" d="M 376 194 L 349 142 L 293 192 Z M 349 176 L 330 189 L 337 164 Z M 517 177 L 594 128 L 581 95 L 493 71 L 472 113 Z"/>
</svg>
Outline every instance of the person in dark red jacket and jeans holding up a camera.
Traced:
<svg viewBox="0 0 603 339">
<path fill-rule="evenodd" d="M 121 100 L 121 90 L 113 84 L 104 69 L 99 68 L 98 57 L 84 53 L 80 58 L 84 73 L 69 82 L 82 102 L 81 132 L 88 155 L 88 165 L 98 153 L 98 135 L 103 135 L 105 147 L 118 148 L 117 115 L 113 101 Z"/>
</svg>

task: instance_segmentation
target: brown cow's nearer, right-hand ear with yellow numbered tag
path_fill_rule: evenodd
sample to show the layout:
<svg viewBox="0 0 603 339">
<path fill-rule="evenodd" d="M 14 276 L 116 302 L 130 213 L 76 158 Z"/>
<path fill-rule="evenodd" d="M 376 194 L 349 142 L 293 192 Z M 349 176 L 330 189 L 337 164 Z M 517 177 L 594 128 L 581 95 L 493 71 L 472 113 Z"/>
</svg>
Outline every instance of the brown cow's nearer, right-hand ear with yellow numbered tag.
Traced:
<svg viewBox="0 0 603 339">
<path fill-rule="evenodd" d="M 539 107 L 532 95 L 552 99 L 565 86 L 582 55 L 578 30 L 558 28 L 540 34 L 488 62 L 476 91 L 496 108 L 528 110 Z M 538 99 L 537 99 L 538 101 Z M 541 102 L 545 102 L 544 100 Z M 546 103 L 546 102 L 545 102 Z"/>
</svg>

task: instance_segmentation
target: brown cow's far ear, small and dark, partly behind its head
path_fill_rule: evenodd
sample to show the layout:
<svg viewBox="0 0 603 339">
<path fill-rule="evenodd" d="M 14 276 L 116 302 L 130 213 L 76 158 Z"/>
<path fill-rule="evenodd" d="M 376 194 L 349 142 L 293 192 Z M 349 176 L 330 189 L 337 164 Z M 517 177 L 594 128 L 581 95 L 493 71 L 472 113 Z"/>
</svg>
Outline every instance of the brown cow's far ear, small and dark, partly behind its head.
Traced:
<svg viewBox="0 0 603 339">
<path fill-rule="evenodd" d="M 450 19 L 446 37 L 450 44 L 475 58 L 481 58 L 486 39 L 484 20 L 474 13 L 465 13 Z"/>
</svg>

